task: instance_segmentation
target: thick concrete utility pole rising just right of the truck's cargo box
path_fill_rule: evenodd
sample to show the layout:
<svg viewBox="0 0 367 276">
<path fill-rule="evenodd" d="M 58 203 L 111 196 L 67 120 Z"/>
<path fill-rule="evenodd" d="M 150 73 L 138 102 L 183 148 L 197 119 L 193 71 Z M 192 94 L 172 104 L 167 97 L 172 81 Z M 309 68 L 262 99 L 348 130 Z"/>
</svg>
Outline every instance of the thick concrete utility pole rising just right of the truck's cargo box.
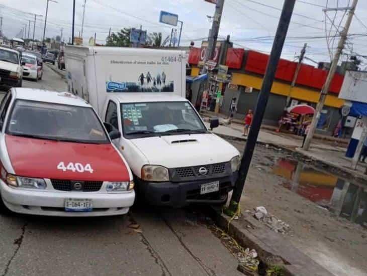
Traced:
<svg viewBox="0 0 367 276">
<path fill-rule="evenodd" d="M 207 60 L 213 59 L 213 56 L 215 53 L 215 48 L 217 45 L 217 39 L 218 39 L 218 33 L 219 33 L 219 27 L 220 27 L 221 19 L 222 19 L 223 7 L 224 7 L 224 0 L 218 0 L 217 4 L 215 5 L 215 14 L 213 17 L 213 23 L 212 23 L 212 28 L 211 28 L 212 31 L 210 33 L 210 37 L 208 41 L 208 53 L 204 59 L 203 73 L 207 72 L 207 69 L 205 68 L 205 63 L 207 62 Z M 208 78 L 208 81 L 209 81 L 209 78 Z"/>
</svg>

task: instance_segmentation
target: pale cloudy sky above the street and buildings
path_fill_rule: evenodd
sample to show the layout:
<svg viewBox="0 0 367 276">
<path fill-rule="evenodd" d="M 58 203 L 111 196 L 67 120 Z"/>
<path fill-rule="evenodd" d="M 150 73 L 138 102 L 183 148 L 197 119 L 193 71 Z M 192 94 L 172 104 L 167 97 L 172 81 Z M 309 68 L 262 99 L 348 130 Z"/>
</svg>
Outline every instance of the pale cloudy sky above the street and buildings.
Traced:
<svg viewBox="0 0 367 276">
<path fill-rule="evenodd" d="M 72 0 L 49 2 L 46 37 L 61 35 L 65 42 L 71 37 Z M 307 43 L 306 57 L 314 61 L 330 61 L 339 37 L 335 37 L 345 23 L 343 11 L 326 13 L 323 8 L 347 7 L 351 0 L 297 0 L 282 57 L 297 59 L 304 43 Z M 269 53 L 276 33 L 283 0 L 225 0 L 219 37 L 230 35 L 235 48 L 253 49 Z M 84 0 L 75 4 L 75 36 L 81 31 Z M 97 33 L 97 42 L 104 44 L 111 27 L 112 32 L 121 28 L 140 28 L 148 33 L 171 33 L 172 26 L 158 22 L 160 11 L 178 15 L 184 22 L 181 45 L 195 42 L 196 47 L 208 36 L 215 5 L 204 0 L 86 0 L 83 39 L 88 41 Z M 3 17 L 3 33 L 14 37 L 20 30 L 37 17 L 35 37 L 42 39 L 46 0 L 2 0 L 0 16 Z M 353 18 L 342 60 L 350 55 L 366 55 L 367 48 L 367 1 L 359 0 L 356 17 Z M 179 33 L 179 26 L 177 35 Z M 28 26 L 27 26 L 28 30 Z M 31 28 L 30 36 L 33 34 Z M 27 31 L 28 35 L 28 31 Z M 327 42 L 326 37 L 329 38 Z M 328 47 L 329 46 L 329 47 Z M 316 65 L 306 59 L 305 62 Z M 367 59 L 362 59 L 362 68 L 367 67 Z"/>
</svg>

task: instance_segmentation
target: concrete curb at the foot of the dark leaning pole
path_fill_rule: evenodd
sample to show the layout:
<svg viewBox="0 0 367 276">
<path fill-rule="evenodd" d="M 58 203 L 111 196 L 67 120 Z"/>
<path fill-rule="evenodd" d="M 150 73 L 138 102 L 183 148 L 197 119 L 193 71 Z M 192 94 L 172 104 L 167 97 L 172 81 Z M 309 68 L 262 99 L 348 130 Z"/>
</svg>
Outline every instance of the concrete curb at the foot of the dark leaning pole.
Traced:
<svg viewBox="0 0 367 276">
<path fill-rule="evenodd" d="M 266 267 L 282 266 L 288 276 L 332 276 L 333 274 L 316 263 L 309 256 L 294 247 L 282 235 L 267 229 L 252 217 L 241 215 L 240 220 L 229 224 L 229 217 L 214 207 L 210 210 L 216 224 L 229 234 L 243 247 L 254 248 Z"/>
</svg>

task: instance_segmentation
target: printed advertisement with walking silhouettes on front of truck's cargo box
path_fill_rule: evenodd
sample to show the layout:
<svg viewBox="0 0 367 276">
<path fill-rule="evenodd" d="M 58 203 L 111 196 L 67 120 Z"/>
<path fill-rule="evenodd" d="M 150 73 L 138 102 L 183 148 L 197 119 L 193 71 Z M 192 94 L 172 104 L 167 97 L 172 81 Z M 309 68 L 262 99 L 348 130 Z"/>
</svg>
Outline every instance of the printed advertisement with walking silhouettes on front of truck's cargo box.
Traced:
<svg viewBox="0 0 367 276">
<path fill-rule="evenodd" d="M 181 87 L 181 56 L 111 56 L 103 60 L 107 92 L 174 92 Z"/>
</svg>

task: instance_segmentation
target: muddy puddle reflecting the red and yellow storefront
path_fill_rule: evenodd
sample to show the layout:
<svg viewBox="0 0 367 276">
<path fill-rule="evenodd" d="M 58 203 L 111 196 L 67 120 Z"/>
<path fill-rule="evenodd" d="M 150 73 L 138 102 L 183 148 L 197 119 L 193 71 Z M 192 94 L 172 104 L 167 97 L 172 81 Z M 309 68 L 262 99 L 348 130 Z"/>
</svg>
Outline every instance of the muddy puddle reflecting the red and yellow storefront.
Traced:
<svg viewBox="0 0 367 276">
<path fill-rule="evenodd" d="M 348 182 L 309 165 L 279 158 L 272 172 L 289 181 L 282 185 L 332 214 L 367 227 L 367 185 Z"/>
</svg>

